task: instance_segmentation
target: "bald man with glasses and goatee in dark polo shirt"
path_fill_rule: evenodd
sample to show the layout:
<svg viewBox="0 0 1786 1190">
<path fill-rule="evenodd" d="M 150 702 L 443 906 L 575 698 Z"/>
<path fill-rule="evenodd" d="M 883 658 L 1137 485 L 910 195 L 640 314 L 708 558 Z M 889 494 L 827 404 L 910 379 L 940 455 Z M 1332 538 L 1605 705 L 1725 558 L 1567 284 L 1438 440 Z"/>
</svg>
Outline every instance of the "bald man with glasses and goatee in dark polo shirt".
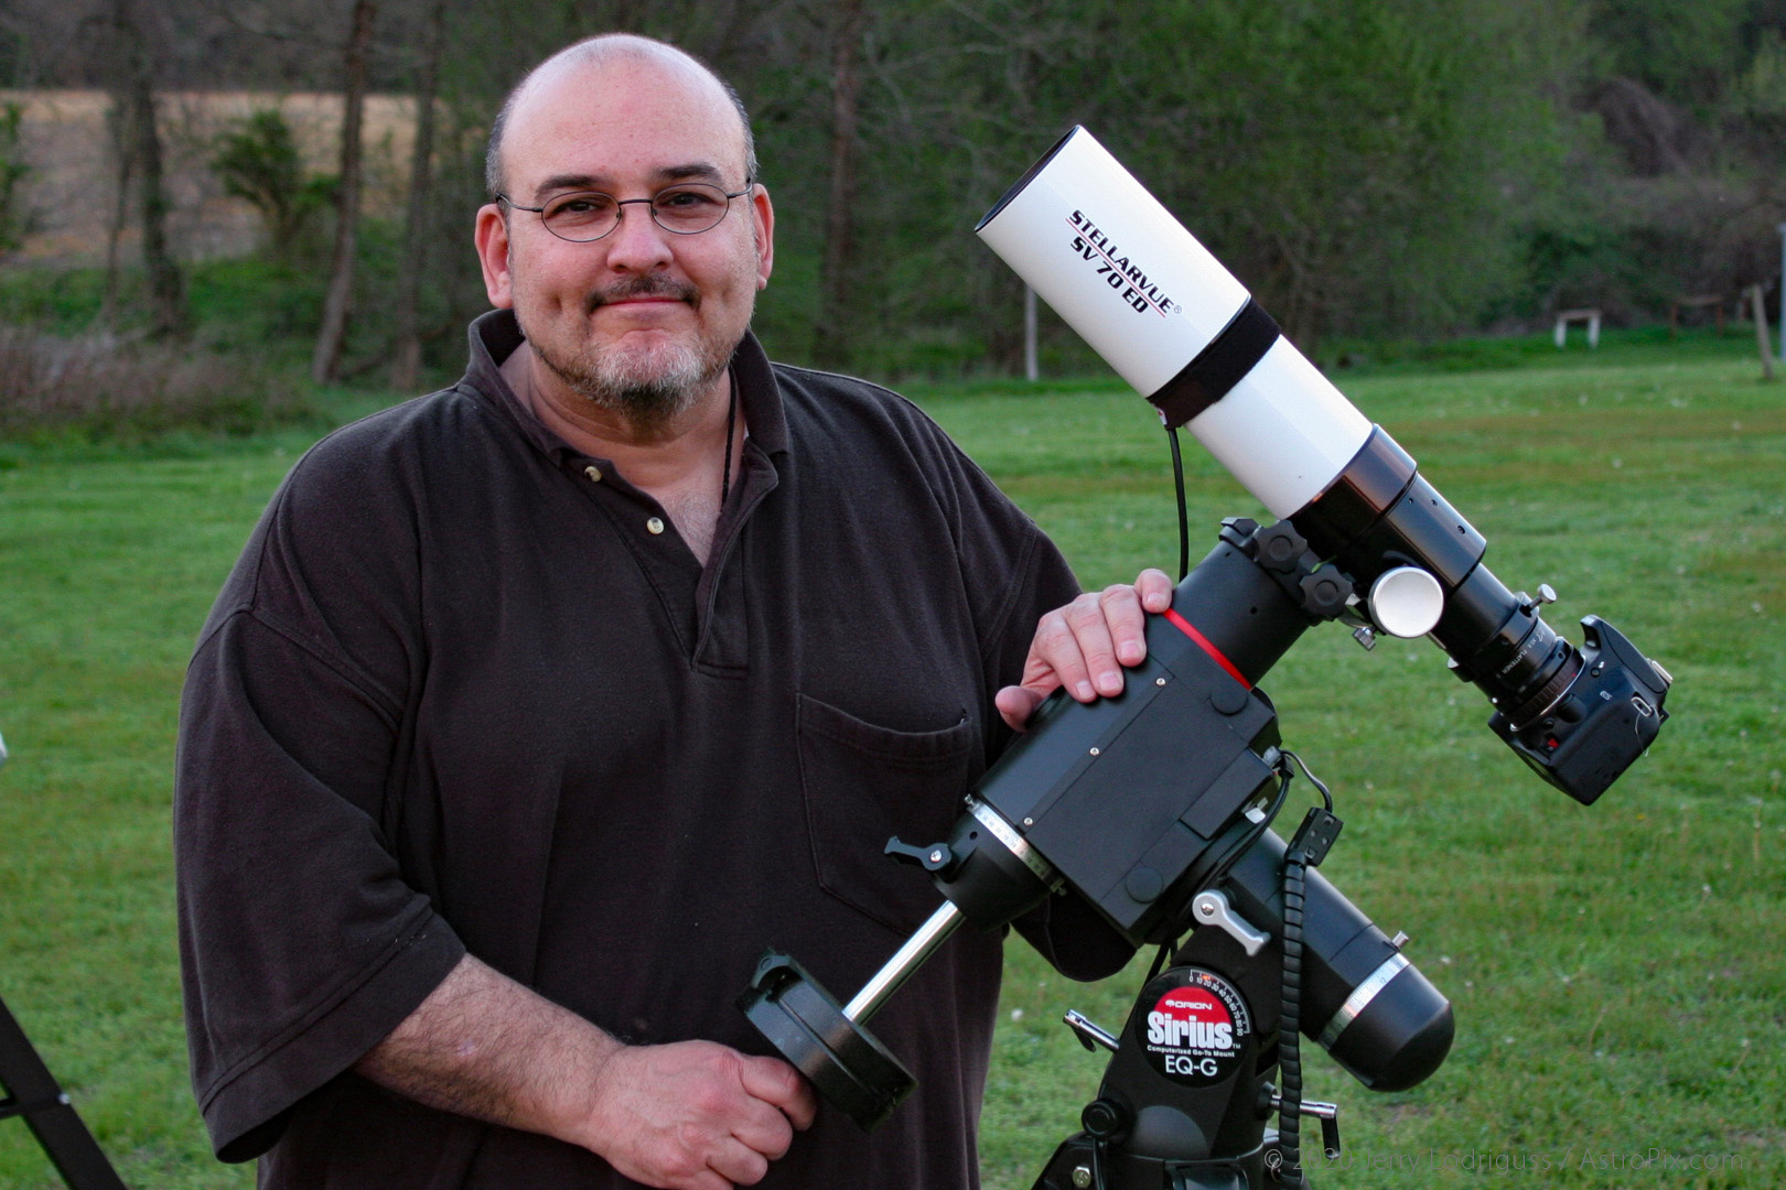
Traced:
<svg viewBox="0 0 1786 1190">
<path fill-rule="evenodd" d="M 491 189 L 466 378 L 293 469 L 189 671 L 218 1153 L 263 1186 L 972 1186 L 998 938 L 877 1017 L 923 1083 L 872 1138 L 732 997 L 770 944 L 879 967 L 936 905 L 886 837 L 939 837 L 1056 685 L 1120 690 L 1168 583 L 1075 599 L 922 414 L 766 360 L 773 207 L 693 59 L 561 52 Z M 1022 928 L 1127 956 L 1064 901 Z"/>
</svg>

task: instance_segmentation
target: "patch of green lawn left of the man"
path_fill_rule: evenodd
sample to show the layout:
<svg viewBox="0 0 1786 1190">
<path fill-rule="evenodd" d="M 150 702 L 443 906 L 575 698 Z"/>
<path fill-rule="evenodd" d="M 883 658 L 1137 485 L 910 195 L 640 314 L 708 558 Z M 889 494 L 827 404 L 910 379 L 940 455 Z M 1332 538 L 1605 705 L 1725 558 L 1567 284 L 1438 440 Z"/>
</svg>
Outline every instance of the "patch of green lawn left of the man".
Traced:
<svg viewBox="0 0 1786 1190">
<path fill-rule="evenodd" d="M 186 655 L 289 462 L 0 471 L 0 996 L 136 1186 L 246 1185 L 184 1087 L 168 790 Z M 50 1185 L 0 1124 L 0 1186 Z"/>
</svg>

